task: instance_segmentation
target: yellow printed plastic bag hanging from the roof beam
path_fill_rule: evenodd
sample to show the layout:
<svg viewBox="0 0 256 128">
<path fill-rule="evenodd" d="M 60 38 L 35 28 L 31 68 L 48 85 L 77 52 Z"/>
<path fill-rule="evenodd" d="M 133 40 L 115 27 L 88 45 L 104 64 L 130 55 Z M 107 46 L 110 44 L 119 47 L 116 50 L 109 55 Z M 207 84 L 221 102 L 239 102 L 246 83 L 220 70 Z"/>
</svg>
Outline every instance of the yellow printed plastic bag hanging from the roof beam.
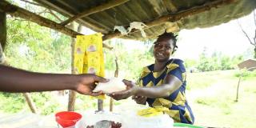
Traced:
<svg viewBox="0 0 256 128">
<path fill-rule="evenodd" d="M 97 74 L 105 77 L 102 34 L 78 35 L 74 46 L 76 74 Z M 105 95 L 96 98 L 105 99 Z"/>
</svg>

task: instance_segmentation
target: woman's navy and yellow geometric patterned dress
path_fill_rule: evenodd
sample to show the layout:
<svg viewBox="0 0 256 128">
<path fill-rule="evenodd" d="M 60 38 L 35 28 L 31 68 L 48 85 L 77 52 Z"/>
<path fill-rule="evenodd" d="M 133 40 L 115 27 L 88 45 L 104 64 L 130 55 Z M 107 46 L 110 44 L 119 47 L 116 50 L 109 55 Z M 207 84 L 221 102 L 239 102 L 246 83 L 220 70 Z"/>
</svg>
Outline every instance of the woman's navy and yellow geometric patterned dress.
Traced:
<svg viewBox="0 0 256 128">
<path fill-rule="evenodd" d="M 175 90 L 174 93 L 166 98 L 147 98 L 146 102 L 151 106 L 163 106 L 167 107 L 171 118 L 174 122 L 182 123 L 194 123 L 194 115 L 188 102 L 186 101 L 186 69 L 183 65 L 183 61 L 180 59 L 170 59 L 166 63 L 164 70 L 154 72 L 154 64 L 146 66 L 142 70 L 141 77 L 138 80 L 139 86 L 161 86 L 164 82 L 166 75 L 174 75 L 176 78 L 182 81 L 182 86 Z"/>
</svg>

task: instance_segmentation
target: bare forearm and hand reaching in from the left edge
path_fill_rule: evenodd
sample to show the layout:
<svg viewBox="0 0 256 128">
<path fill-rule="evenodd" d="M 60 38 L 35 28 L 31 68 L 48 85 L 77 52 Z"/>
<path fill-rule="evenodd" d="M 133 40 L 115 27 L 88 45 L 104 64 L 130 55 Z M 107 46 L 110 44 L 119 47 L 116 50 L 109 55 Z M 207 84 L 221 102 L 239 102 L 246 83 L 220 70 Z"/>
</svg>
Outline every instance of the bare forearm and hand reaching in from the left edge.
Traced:
<svg viewBox="0 0 256 128">
<path fill-rule="evenodd" d="M 5 92 L 76 90 L 96 96 L 102 92 L 92 92 L 95 82 L 107 81 L 95 74 L 41 74 L 0 65 L 0 91 Z"/>
</svg>

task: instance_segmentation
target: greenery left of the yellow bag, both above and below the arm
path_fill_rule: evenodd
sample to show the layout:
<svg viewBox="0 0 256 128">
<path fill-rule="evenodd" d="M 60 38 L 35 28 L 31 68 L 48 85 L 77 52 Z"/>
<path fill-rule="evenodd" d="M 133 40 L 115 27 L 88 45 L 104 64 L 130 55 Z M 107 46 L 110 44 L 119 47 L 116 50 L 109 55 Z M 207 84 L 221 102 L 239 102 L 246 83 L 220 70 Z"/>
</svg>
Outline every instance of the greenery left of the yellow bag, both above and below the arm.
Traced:
<svg viewBox="0 0 256 128">
<path fill-rule="evenodd" d="M 36 10 L 37 13 L 43 11 L 41 7 L 27 5 L 25 7 Z M 49 13 L 41 14 L 54 20 Z M 36 72 L 70 73 L 70 42 L 69 36 L 54 30 L 20 18 L 7 18 L 5 54 L 10 66 Z M 60 107 L 51 93 L 32 93 L 30 95 L 41 114 L 51 114 Z M 0 108 L 10 113 L 20 110 L 29 111 L 22 94 L 0 93 Z"/>
</svg>

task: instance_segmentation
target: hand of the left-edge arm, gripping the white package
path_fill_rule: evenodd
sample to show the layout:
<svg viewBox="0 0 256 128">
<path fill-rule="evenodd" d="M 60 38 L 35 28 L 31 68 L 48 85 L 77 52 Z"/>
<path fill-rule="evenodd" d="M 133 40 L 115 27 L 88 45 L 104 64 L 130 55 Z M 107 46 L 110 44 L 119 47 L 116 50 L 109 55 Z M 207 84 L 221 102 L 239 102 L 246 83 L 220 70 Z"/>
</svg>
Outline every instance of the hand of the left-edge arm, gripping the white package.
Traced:
<svg viewBox="0 0 256 128">
<path fill-rule="evenodd" d="M 80 81 L 76 86 L 75 90 L 79 94 L 86 94 L 91 96 L 98 96 L 103 94 L 102 91 L 100 92 L 93 92 L 97 82 L 108 82 L 109 80 L 106 78 L 99 77 L 95 74 L 79 74 Z"/>
</svg>

